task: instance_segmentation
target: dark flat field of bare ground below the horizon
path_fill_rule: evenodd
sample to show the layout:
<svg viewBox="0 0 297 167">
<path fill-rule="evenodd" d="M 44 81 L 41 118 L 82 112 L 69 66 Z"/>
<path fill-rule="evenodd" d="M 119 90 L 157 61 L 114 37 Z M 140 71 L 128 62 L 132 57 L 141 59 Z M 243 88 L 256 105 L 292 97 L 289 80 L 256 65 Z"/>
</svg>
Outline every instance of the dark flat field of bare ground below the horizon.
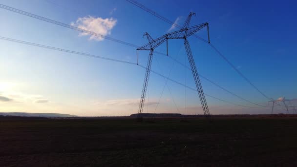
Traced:
<svg viewBox="0 0 297 167">
<path fill-rule="evenodd" d="M 0 118 L 0 167 L 297 166 L 297 118 Z"/>
</svg>

